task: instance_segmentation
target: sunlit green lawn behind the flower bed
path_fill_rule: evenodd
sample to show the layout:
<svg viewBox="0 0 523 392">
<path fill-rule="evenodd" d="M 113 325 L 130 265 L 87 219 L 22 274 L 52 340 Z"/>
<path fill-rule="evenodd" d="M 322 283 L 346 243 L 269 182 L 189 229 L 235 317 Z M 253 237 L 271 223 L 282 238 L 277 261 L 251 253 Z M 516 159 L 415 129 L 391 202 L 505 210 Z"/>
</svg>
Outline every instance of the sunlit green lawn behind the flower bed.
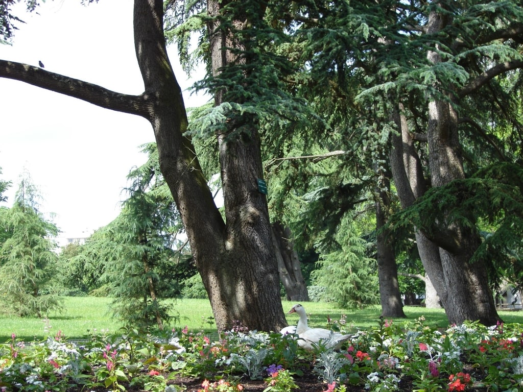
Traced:
<svg viewBox="0 0 523 392">
<path fill-rule="evenodd" d="M 25 341 L 42 340 L 49 335 L 56 335 L 61 330 L 67 339 L 81 339 L 89 333 L 116 333 L 121 327 L 118 320 L 111 318 L 109 305 L 110 298 L 99 297 L 66 297 L 66 311 L 51 313 L 47 319 L 30 317 L 0 316 L 0 342 L 11 339 L 15 333 L 18 339 Z M 294 305 L 294 302 L 282 301 L 284 312 Z M 311 327 L 326 327 L 327 318 L 346 321 L 346 328 L 355 331 L 358 328 L 366 329 L 378 325 L 381 308 L 370 306 L 365 309 L 343 309 L 335 304 L 318 302 L 302 303 L 309 314 Z M 181 328 L 188 326 L 190 330 L 215 331 L 211 305 L 207 299 L 177 299 L 173 302 L 173 316 L 175 322 L 170 327 Z M 442 309 L 426 309 L 424 307 L 405 306 L 407 319 L 395 319 L 393 322 L 415 322 L 420 316 L 425 317 L 425 325 L 435 328 L 448 326 L 447 317 Z M 522 312 L 499 312 L 505 322 L 523 322 Z M 287 314 L 289 325 L 298 322 L 298 316 Z"/>
</svg>

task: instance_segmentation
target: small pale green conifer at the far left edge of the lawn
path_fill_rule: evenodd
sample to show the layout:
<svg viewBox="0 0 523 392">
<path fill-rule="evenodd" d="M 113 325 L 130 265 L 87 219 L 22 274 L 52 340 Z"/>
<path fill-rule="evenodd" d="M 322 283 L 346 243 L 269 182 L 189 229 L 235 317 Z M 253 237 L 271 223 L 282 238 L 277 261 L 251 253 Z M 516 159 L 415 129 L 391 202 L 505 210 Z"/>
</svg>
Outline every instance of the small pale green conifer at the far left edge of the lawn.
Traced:
<svg viewBox="0 0 523 392">
<path fill-rule="evenodd" d="M 39 212 L 37 197 L 36 187 L 25 176 L 13 206 L 0 210 L 0 227 L 9 233 L 0 247 L 0 308 L 19 316 L 42 317 L 62 306 L 53 287 L 58 270 L 51 238 L 58 228 Z"/>
</svg>

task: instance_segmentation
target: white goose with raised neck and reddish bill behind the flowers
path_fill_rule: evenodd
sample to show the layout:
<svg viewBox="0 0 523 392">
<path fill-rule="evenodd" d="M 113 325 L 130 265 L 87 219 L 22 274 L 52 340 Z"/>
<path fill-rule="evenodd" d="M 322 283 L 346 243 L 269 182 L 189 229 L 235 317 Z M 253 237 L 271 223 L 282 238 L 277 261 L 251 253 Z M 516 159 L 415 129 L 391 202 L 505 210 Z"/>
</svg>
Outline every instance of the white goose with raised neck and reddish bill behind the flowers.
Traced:
<svg viewBox="0 0 523 392">
<path fill-rule="evenodd" d="M 353 335 L 342 335 L 325 328 L 309 328 L 305 308 L 300 304 L 294 305 L 289 310 L 289 314 L 291 313 L 298 313 L 300 316 L 295 333 L 300 338 L 298 339 L 298 345 L 305 350 L 311 351 L 319 344 L 324 345 L 327 349 L 339 350 L 343 342 L 353 337 Z"/>
</svg>

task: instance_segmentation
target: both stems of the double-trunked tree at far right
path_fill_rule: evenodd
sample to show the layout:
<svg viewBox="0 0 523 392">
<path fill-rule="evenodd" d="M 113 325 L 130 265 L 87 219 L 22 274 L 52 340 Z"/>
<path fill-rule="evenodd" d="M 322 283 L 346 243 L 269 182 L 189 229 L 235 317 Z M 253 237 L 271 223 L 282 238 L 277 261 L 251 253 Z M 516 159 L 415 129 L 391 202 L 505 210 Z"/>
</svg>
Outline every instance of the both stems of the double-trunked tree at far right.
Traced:
<svg viewBox="0 0 523 392">
<path fill-rule="evenodd" d="M 402 206 L 406 207 L 424 193 L 425 186 L 424 180 L 418 175 L 420 170 L 416 169 L 419 158 L 413 149 L 412 138 L 407 132 L 400 109 L 395 113 L 395 122 L 401 135 L 392 136 L 391 166 Z M 458 155 L 460 148 L 455 113 L 451 113 L 448 103 L 436 104 L 433 101 L 429 103 L 429 118 L 427 141 L 433 186 L 464 178 Z M 423 266 L 439 295 L 449 322 L 460 324 L 464 320 L 480 320 L 486 325 L 496 324 L 499 317 L 488 287 L 484 263 L 469 263 L 479 245 L 477 234 L 469 231 L 465 235 L 464 228 L 452 224 L 431 238 L 418 228 L 415 228 L 415 235 Z"/>
</svg>

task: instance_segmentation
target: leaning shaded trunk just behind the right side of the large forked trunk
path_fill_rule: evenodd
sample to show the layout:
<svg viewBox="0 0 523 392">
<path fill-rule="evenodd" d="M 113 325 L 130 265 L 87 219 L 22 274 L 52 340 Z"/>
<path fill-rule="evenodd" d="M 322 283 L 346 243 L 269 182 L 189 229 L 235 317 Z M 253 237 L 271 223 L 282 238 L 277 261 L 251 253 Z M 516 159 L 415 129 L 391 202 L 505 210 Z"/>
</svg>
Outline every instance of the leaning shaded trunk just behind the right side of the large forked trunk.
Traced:
<svg viewBox="0 0 523 392">
<path fill-rule="evenodd" d="M 291 230 L 281 222 L 272 224 L 272 243 L 276 250 L 280 281 L 285 288 L 287 301 L 309 301 L 309 291 L 301 273 L 298 253 L 294 250 Z"/>
</svg>

